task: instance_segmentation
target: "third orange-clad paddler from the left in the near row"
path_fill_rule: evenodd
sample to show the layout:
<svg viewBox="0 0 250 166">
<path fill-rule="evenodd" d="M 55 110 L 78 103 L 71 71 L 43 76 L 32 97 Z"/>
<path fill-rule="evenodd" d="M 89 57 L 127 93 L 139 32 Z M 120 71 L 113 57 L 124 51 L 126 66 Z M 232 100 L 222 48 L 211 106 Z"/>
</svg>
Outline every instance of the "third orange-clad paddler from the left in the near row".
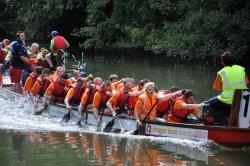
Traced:
<svg viewBox="0 0 250 166">
<path fill-rule="evenodd" d="M 44 93 L 44 103 L 41 110 L 45 110 L 50 102 L 63 103 L 69 90 L 68 75 L 64 73 L 58 80 L 52 82 Z"/>
</svg>

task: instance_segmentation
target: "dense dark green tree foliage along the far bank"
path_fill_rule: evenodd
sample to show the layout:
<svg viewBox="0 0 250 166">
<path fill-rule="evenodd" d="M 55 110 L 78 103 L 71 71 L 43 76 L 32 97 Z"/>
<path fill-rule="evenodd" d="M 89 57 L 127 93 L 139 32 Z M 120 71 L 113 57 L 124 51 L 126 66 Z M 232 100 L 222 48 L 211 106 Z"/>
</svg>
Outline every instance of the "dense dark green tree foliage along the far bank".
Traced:
<svg viewBox="0 0 250 166">
<path fill-rule="evenodd" d="M 250 1 L 2 1 L 11 22 L 1 21 L 0 29 L 23 27 L 37 39 L 56 27 L 77 40 L 86 39 L 81 42 L 86 49 L 144 49 L 199 57 L 219 56 L 224 50 L 237 56 L 249 52 Z"/>
</svg>

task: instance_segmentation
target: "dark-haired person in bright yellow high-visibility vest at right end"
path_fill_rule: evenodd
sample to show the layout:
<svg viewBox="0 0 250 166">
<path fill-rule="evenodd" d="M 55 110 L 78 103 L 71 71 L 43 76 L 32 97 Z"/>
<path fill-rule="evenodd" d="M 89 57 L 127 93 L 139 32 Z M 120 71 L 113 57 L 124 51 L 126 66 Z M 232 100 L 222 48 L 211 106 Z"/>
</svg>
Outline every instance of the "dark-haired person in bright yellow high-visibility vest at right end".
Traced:
<svg viewBox="0 0 250 166">
<path fill-rule="evenodd" d="M 214 117 L 214 125 L 225 125 L 226 117 L 230 116 L 233 95 L 236 89 L 247 89 L 249 80 L 245 73 L 245 68 L 235 65 L 234 56 L 226 51 L 221 56 L 224 66 L 218 73 L 214 81 L 213 89 L 220 95 L 208 100 Z"/>
</svg>

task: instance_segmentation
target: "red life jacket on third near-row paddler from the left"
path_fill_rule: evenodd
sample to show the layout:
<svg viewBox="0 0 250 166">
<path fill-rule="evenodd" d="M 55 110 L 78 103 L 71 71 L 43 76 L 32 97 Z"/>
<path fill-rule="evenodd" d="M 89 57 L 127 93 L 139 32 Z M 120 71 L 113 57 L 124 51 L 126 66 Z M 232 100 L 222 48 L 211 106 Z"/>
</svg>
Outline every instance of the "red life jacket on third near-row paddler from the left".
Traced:
<svg viewBox="0 0 250 166">
<path fill-rule="evenodd" d="M 63 103 L 64 99 L 66 97 L 66 94 L 64 92 L 66 83 L 62 84 L 59 82 L 59 80 L 54 82 L 54 91 L 52 93 L 53 96 L 55 96 L 55 101 L 59 103 Z"/>
</svg>

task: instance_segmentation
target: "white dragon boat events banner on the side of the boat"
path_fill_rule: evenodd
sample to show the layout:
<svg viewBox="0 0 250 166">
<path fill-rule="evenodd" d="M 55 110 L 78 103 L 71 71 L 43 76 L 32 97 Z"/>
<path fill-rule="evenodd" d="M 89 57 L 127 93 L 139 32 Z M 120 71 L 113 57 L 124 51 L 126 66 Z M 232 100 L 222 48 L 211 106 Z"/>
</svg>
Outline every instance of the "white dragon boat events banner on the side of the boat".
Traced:
<svg viewBox="0 0 250 166">
<path fill-rule="evenodd" d="M 207 130 L 162 126 L 155 124 L 146 124 L 146 134 L 155 136 L 186 138 L 186 139 L 198 139 L 198 140 L 208 139 Z"/>
</svg>

